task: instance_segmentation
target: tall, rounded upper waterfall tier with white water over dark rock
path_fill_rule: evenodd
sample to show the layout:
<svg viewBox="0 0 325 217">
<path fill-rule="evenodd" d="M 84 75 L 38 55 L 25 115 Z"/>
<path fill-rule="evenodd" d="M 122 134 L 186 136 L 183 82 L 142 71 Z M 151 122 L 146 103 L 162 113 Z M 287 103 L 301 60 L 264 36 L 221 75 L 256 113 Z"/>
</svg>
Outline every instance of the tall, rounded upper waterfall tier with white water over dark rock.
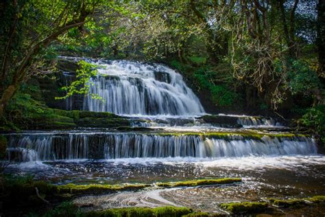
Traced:
<svg viewBox="0 0 325 217">
<path fill-rule="evenodd" d="M 84 100 L 84 110 L 108 111 L 119 115 L 199 115 L 200 100 L 182 76 L 158 64 L 126 60 L 93 62 L 99 66 L 90 93 L 104 99 Z"/>
</svg>

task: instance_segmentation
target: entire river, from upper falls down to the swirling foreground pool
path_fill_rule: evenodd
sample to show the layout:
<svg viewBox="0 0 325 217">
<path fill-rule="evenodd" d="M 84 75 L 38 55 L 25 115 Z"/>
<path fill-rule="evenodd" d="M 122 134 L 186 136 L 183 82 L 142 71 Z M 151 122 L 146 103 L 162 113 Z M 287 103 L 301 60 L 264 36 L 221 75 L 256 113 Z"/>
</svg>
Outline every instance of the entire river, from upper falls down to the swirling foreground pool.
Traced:
<svg viewBox="0 0 325 217">
<path fill-rule="evenodd" d="M 231 128 L 204 122 L 200 100 L 179 73 L 164 65 L 88 61 L 99 67 L 91 93 L 104 102 L 86 97 L 83 109 L 128 117 L 131 130 L 5 134 L 16 161 L 10 172 L 57 184 L 243 178 L 232 185 L 150 187 L 75 198 L 76 204 L 91 204 L 83 209 L 176 205 L 218 212 L 218 204 L 228 201 L 325 194 L 325 157 L 312 137 L 267 117 L 220 114 L 235 120 Z"/>
</svg>

